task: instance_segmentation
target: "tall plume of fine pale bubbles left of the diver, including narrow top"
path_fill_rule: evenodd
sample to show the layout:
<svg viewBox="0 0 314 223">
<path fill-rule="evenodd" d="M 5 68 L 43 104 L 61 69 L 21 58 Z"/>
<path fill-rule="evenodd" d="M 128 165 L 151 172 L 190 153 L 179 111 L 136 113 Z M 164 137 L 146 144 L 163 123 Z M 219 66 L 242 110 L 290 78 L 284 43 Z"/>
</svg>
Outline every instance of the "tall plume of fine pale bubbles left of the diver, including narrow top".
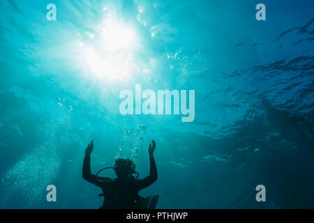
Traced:
<svg viewBox="0 0 314 223">
<path fill-rule="evenodd" d="M 47 206 L 46 187 L 56 182 L 61 169 L 60 153 L 56 144 L 57 123 L 62 123 L 67 128 L 68 120 L 64 116 L 60 119 L 51 118 L 40 126 L 36 132 L 45 142 L 22 155 L 6 171 L 1 180 L 1 187 L 5 192 L 4 203 L 9 203 L 17 195 L 21 201 L 17 204 L 18 208 Z"/>
</svg>

